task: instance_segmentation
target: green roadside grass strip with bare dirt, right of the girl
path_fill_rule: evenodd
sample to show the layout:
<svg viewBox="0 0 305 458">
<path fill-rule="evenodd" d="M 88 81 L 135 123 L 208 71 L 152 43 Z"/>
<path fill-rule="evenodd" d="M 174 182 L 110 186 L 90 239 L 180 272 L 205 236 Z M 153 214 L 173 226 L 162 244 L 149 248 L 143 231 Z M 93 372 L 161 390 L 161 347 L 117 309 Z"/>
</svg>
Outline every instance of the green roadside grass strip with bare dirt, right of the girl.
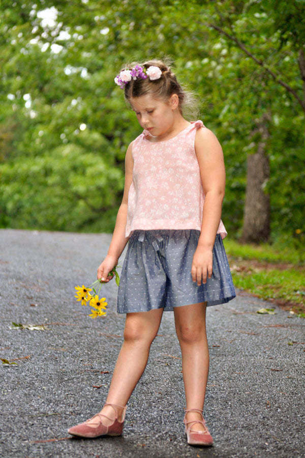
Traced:
<svg viewBox="0 0 305 458">
<path fill-rule="evenodd" d="M 305 318 L 305 266 L 299 250 L 229 239 L 224 246 L 237 289 Z"/>
</svg>

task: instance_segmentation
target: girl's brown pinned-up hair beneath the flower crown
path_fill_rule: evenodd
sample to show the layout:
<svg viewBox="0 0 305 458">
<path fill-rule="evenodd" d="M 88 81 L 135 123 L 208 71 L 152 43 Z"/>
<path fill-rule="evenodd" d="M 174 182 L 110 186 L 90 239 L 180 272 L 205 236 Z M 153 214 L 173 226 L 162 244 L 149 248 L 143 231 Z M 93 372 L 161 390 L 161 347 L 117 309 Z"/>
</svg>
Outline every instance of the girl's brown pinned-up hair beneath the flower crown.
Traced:
<svg viewBox="0 0 305 458">
<path fill-rule="evenodd" d="M 172 94 L 177 94 L 179 99 L 179 111 L 186 118 L 196 118 L 199 116 L 198 102 L 193 92 L 188 91 L 182 86 L 176 78 L 175 73 L 171 70 L 171 60 L 165 58 L 164 61 L 153 59 L 144 63 L 132 62 L 121 70 L 132 69 L 136 65 L 145 67 L 159 67 L 162 75 L 159 79 L 150 80 L 149 78 L 131 79 L 124 88 L 124 95 L 127 102 L 130 103 L 131 97 L 141 97 L 145 94 L 151 94 L 156 99 L 167 101 Z"/>
</svg>

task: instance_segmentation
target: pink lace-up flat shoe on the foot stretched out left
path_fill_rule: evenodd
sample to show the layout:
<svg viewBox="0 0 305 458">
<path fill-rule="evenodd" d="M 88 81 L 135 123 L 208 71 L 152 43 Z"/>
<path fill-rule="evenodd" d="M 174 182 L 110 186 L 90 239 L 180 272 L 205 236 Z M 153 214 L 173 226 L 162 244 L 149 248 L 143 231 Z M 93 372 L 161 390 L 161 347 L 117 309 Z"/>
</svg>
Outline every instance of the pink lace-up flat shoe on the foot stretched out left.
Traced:
<svg viewBox="0 0 305 458">
<path fill-rule="evenodd" d="M 115 418 L 112 424 L 110 424 L 109 426 L 103 425 L 102 417 L 106 417 L 109 420 L 111 420 L 112 418 L 107 417 L 107 415 L 98 413 L 98 414 L 95 414 L 92 418 L 89 418 L 88 420 L 86 420 L 84 423 L 80 423 L 80 424 L 77 424 L 76 426 L 73 426 L 72 428 L 69 428 L 68 433 L 72 434 L 72 436 L 87 437 L 87 438 L 95 438 L 99 436 L 120 436 L 123 432 L 123 426 L 124 426 L 127 406 L 125 407 L 117 406 L 116 404 L 110 404 L 110 403 L 105 403 L 105 406 L 111 406 L 115 411 Z M 121 407 L 122 409 L 124 409 L 121 421 L 118 421 L 118 414 L 117 414 L 116 407 Z M 92 420 L 93 418 L 96 418 L 97 422 L 88 424 L 88 422 Z"/>
</svg>

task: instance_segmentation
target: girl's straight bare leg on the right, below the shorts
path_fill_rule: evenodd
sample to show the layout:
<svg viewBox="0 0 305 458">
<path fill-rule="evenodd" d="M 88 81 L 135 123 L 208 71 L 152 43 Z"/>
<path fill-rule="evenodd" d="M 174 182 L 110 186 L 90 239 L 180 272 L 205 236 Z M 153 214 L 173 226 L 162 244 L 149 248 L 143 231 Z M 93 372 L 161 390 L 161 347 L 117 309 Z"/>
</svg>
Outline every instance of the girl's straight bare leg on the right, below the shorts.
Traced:
<svg viewBox="0 0 305 458">
<path fill-rule="evenodd" d="M 187 409 L 203 409 L 209 354 L 205 328 L 206 302 L 174 307 L 175 327 L 182 353 L 182 373 Z M 201 420 L 199 412 L 188 412 L 187 421 Z M 192 430 L 203 431 L 200 423 Z"/>
</svg>

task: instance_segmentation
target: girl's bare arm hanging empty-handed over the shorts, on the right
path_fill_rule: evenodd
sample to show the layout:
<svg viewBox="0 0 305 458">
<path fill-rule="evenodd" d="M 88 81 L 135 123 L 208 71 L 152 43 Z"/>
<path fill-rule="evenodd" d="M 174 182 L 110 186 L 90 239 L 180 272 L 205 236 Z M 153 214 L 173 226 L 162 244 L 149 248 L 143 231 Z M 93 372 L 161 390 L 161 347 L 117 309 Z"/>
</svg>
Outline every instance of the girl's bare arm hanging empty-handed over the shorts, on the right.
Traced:
<svg viewBox="0 0 305 458">
<path fill-rule="evenodd" d="M 206 283 L 207 272 L 209 278 L 212 275 L 212 249 L 221 219 L 226 171 L 222 147 L 211 130 L 207 128 L 197 130 L 195 151 L 205 198 L 201 233 L 193 259 L 192 277 L 193 281 L 197 280 L 197 283 L 201 284 L 201 276 L 203 283 Z"/>
</svg>

